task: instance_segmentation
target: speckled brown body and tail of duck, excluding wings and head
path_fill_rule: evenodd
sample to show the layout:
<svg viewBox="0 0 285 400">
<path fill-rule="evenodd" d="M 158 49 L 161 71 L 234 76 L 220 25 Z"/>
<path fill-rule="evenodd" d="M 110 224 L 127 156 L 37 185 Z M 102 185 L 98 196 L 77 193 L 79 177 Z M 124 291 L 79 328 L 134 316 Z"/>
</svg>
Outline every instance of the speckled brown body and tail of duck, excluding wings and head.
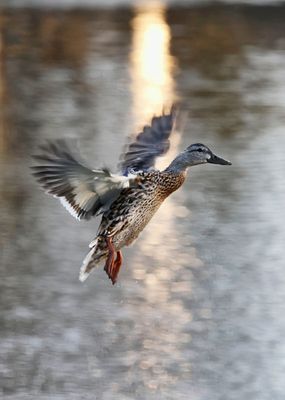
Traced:
<svg viewBox="0 0 285 400">
<path fill-rule="evenodd" d="M 148 173 L 139 173 L 140 183 L 137 188 L 123 189 L 120 196 L 112 203 L 101 220 L 96 238 L 90 243 L 91 250 L 88 253 L 81 268 L 80 280 L 84 281 L 94 264 L 108 257 L 110 245 L 106 238 L 111 238 L 111 243 L 117 257 L 122 261 L 120 250 L 131 245 L 143 231 L 154 216 L 163 201 L 183 184 L 186 173 L 177 174 L 167 171 L 153 170 Z M 113 283 L 117 273 L 108 276 Z"/>
</svg>

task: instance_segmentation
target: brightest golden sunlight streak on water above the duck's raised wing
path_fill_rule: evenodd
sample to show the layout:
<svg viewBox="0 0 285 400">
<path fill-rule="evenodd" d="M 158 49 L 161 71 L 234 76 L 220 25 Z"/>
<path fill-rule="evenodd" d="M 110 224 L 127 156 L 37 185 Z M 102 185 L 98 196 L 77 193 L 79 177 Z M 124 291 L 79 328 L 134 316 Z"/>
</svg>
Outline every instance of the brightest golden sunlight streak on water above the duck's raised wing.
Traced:
<svg viewBox="0 0 285 400">
<path fill-rule="evenodd" d="M 174 58 L 169 54 L 171 33 L 165 20 L 165 6 L 137 7 L 132 27 L 134 116 L 135 123 L 142 124 L 175 101 Z"/>
</svg>

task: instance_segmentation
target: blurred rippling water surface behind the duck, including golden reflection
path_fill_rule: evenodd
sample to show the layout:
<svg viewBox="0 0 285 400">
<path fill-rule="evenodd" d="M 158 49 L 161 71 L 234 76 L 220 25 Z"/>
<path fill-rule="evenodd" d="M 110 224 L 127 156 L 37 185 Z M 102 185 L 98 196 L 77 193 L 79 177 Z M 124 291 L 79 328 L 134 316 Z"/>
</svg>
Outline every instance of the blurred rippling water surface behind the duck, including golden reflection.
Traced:
<svg viewBox="0 0 285 400">
<path fill-rule="evenodd" d="M 284 399 L 284 20 L 282 5 L 2 9 L 2 398 Z M 118 284 L 98 269 L 82 285 L 98 222 L 39 190 L 31 153 L 79 138 L 115 169 L 177 99 L 168 161 L 199 141 L 232 167 L 193 168 Z"/>
</svg>

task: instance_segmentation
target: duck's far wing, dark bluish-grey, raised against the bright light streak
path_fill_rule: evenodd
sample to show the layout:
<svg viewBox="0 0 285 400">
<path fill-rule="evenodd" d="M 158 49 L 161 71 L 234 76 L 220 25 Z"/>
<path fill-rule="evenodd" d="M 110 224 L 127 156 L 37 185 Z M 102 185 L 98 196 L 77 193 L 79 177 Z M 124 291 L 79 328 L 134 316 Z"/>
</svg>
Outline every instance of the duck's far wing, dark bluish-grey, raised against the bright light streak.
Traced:
<svg viewBox="0 0 285 400">
<path fill-rule="evenodd" d="M 130 170 L 145 171 L 154 167 L 155 159 L 165 154 L 169 147 L 169 136 L 173 130 L 176 109 L 172 107 L 168 114 L 153 117 L 136 140 L 131 143 L 122 155 L 120 170 L 127 175 Z"/>
</svg>

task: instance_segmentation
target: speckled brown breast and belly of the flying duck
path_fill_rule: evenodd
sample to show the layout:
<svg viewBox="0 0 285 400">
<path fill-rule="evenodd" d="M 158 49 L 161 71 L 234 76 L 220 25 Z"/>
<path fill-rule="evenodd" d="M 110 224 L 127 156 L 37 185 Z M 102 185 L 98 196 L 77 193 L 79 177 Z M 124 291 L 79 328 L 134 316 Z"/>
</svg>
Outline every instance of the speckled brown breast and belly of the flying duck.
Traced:
<svg viewBox="0 0 285 400">
<path fill-rule="evenodd" d="M 103 215 L 99 236 L 111 236 L 117 250 L 130 245 L 162 202 L 177 190 L 185 174 L 152 171 L 141 174 L 141 188 L 124 189 Z"/>
</svg>

